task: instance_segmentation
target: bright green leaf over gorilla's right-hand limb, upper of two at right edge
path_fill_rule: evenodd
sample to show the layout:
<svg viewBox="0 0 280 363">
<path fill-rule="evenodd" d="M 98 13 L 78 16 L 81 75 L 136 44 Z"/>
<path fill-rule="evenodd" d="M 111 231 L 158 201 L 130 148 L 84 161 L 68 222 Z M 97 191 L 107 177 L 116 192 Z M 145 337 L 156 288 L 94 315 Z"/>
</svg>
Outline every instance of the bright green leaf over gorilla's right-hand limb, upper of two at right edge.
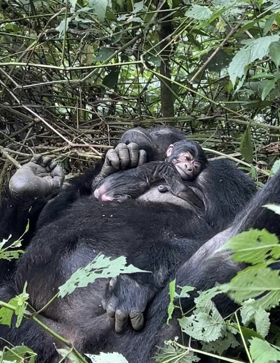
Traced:
<svg viewBox="0 0 280 363">
<path fill-rule="evenodd" d="M 266 229 L 249 229 L 230 238 L 216 252 L 230 249 L 234 254 L 232 260 L 259 264 L 268 259 L 276 260 L 280 257 L 280 244 L 275 234 Z"/>
</svg>

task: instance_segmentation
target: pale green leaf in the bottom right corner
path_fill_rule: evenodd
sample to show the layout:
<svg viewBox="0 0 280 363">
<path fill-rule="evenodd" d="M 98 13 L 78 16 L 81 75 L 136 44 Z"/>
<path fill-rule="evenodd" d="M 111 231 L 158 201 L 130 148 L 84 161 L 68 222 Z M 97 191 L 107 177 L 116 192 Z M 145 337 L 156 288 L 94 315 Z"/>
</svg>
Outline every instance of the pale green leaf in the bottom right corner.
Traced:
<svg viewBox="0 0 280 363">
<path fill-rule="evenodd" d="M 276 349 L 272 344 L 258 338 L 252 338 L 249 342 L 249 352 L 254 363 L 278 362 L 280 360 L 279 348 Z"/>
</svg>

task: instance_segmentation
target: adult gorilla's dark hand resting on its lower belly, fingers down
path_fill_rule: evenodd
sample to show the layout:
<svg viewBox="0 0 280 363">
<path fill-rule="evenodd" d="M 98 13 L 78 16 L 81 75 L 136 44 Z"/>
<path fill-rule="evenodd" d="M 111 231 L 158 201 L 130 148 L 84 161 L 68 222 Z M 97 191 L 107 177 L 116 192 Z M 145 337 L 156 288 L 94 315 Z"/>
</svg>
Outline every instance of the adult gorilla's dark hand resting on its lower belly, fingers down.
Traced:
<svg viewBox="0 0 280 363">
<path fill-rule="evenodd" d="M 140 330 L 144 325 L 143 312 L 154 294 L 150 286 L 140 285 L 130 276 L 112 278 L 106 286 L 102 306 L 115 332 L 125 330 L 128 318 L 133 329 Z"/>
</svg>

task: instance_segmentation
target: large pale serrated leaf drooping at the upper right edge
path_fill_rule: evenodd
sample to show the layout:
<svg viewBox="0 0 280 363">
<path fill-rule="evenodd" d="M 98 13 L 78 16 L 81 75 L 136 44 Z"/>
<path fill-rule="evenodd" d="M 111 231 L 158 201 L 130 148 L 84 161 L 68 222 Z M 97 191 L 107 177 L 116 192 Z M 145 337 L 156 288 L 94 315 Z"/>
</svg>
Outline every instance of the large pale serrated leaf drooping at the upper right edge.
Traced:
<svg viewBox="0 0 280 363">
<path fill-rule="evenodd" d="M 268 53 L 269 46 L 278 41 L 280 35 L 272 35 L 266 37 L 260 37 L 255 40 L 250 40 L 246 45 L 241 48 L 235 56 L 232 58 L 230 66 L 228 67 L 228 73 L 230 74 L 230 80 L 235 85 L 236 79 L 242 77 L 247 73 L 245 67 L 256 59 L 263 59 Z"/>
</svg>

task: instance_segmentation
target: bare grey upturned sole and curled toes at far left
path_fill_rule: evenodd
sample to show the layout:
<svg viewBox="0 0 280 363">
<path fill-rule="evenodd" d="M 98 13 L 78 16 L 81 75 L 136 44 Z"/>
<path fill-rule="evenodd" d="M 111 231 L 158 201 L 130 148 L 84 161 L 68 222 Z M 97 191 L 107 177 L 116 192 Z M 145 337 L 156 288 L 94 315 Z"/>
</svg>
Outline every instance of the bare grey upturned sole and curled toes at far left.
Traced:
<svg viewBox="0 0 280 363">
<path fill-rule="evenodd" d="M 44 197 L 60 188 L 63 170 L 52 159 L 34 155 L 9 181 L 10 192 L 20 196 Z"/>
</svg>

